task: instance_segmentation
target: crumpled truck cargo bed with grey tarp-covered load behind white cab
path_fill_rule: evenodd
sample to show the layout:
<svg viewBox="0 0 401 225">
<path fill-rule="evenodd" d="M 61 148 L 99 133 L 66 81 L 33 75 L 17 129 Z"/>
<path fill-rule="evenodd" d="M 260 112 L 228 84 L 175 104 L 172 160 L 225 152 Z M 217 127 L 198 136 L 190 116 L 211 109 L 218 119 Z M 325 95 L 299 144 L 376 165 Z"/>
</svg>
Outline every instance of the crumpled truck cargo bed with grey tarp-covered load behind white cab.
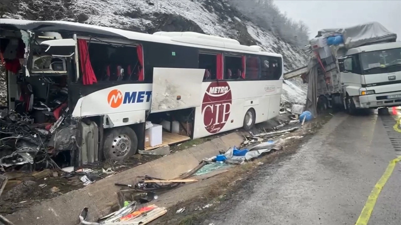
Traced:
<svg viewBox="0 0 401 225">
<path fill-rule="evenodd" d="M 322 108 L 344 105 L 342 103 L 347 93 L 344 89 L 346 84 L 344 85 L 340 76 L 340 67 L 343 66 L 342 57 L 346 56 L 348 50 L 395 42 L 396 39 L 397 34 L 378 22 L 320 30 L 318 35 L 310 40 L 311 59 L 307 71 L 301 74 L 304 82 L 308 83 L 306 110 L 316 115 L 318 105 Z M 326 97 L 320 99 L 320 96 Z"/>
</svg>

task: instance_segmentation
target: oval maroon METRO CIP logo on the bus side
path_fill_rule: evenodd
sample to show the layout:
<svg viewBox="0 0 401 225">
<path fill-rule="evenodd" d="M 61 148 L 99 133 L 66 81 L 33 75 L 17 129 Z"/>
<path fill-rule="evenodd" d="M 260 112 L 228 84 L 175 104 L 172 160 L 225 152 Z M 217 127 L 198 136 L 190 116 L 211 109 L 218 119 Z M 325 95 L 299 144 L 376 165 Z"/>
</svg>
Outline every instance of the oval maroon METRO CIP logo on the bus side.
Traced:
<svg viewBox="0 0 401 225">
<path fill-rule="evenodd" d="M 203 124 L 209 133 L 223 129 L 231 112 L 231 88 L 225 81 L 211 82 L 202 101 Z"/>
</svg>

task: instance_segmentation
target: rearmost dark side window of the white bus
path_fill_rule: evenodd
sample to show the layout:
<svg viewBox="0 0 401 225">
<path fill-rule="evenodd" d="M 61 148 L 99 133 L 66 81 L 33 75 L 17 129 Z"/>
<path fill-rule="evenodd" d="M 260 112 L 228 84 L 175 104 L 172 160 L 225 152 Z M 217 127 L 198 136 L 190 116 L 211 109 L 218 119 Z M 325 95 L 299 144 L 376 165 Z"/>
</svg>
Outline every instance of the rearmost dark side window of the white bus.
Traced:
<svg viewBox="0 0 401 225">
<path fill-rule="evenodd" d="M 261 80 L 278 80 L 281 76 L 281 58 L 273 56 L 261 56 Z"/>
</svg>

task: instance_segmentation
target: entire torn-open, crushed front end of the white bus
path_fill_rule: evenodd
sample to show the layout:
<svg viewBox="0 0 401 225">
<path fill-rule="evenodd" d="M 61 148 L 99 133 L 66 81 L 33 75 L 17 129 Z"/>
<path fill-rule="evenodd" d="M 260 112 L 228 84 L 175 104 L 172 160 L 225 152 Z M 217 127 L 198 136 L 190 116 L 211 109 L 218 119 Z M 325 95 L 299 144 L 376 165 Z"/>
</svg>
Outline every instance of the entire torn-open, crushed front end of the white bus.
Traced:
<svg viewBox="0 0 401 225">
<path fill-rule="evenodd" d="M 0 166 L 32 171 L 80 165 L 81 119 L 71 118 L 69 92 L 77 80 L 74 35 L 16 21 L 4 19 L 0 28 L 7 86 Z"/>
</svg>

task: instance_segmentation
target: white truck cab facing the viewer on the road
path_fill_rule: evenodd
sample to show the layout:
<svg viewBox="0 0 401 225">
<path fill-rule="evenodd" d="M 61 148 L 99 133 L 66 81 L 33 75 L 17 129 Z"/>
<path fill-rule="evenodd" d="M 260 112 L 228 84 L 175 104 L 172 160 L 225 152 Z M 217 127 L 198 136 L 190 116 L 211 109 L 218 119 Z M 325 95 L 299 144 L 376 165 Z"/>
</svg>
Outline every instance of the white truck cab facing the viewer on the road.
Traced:
<svg viewBox="0 0 401 225">
<path fill-rule="evenodd" d="M 349 49 L 338 58 L 344 106 L 401 106 L 401 42 Z"/>
</svg>

